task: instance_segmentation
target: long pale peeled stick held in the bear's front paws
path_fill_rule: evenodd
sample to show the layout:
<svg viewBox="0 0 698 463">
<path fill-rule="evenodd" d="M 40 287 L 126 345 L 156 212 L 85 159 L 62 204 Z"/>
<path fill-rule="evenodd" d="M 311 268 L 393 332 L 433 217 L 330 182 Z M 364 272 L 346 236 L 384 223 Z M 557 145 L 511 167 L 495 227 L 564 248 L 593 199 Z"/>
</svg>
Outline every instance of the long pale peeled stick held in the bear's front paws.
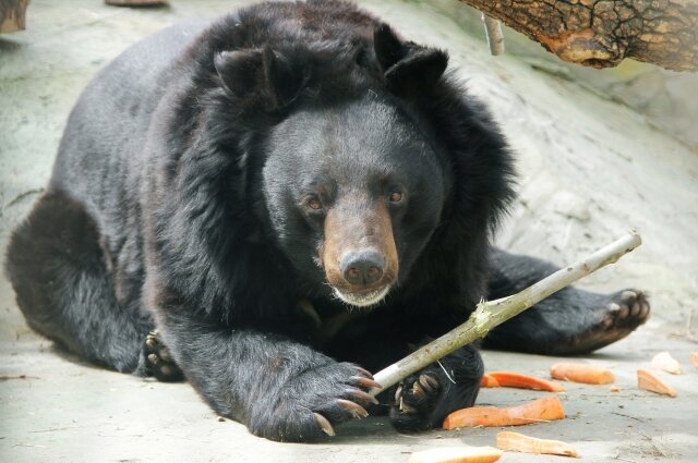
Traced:
<svg viewBox="0 0 698 463">
<path fill-rule="evenodd" d="M 549 295 L 574 283 L 601 267 L 616 263 L 621 257 L 642 244 L 635 231 L 597 251 L 583 260 L 557 270 L 547 278 L 530 285 L 524 291 L 496 301 L 480 302 L 470 318 L 446 334 L 414 351 L 401 361 L 376 373 L 373 378 L 382 386 L 374 388 L 371 395 L 377 395 L 390 386 L 419 371 L 456 349 L 483 338 L 488 331 L 533 306 Z"/>
</svg>

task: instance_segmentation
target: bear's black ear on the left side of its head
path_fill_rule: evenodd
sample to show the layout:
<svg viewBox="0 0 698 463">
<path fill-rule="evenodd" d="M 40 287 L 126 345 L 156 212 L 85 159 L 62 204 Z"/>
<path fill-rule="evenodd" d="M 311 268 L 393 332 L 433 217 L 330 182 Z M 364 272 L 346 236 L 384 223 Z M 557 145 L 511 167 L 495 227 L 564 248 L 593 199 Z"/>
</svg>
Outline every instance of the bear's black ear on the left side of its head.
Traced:
<svg viewBox="0 0 698 463">
<path fill-rule="evenodd" d="M 255 50 L 222 51 L 214 65 L 226 89 L 236 98 L 257 96 L 267 109 L 291 103 L 304 85 L 303 70 L 269 47 Z"/>
</svg>

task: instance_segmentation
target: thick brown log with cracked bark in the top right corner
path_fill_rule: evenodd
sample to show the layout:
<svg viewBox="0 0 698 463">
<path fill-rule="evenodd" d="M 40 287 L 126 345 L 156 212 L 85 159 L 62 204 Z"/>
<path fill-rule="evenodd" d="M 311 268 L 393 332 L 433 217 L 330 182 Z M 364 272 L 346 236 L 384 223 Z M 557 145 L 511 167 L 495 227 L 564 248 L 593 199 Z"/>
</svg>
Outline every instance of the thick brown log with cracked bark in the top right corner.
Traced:
<svg viewBox="0 0 698 463">
<path fill-rule="evenodd" d="M 698 0 L 460 0 L 564 61 L 698 71 Z"/>
</svg>

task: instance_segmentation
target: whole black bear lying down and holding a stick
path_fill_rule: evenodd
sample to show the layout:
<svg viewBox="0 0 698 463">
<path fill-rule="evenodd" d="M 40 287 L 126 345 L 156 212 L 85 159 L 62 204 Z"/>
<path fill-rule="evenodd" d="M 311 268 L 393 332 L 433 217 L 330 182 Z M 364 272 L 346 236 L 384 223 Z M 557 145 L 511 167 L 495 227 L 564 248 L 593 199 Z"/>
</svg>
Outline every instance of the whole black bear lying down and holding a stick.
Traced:
<svg viewBox="0 0 698 463">
<path fill-rule="evenodd" d="M 491 248 L 513 161 L 447 54 L 341 1 L 268 2 L 135 45 L 73 109 L 7 270 L 29 326 L 119 371 L 182 376 L 284 441 L 383 410 L 369 371 L 546 276 Z M 641 292 L 564 290 L 485 346 L 575 354 Z M 473 346 L 380 397 L 400 430 L 476 400 Z"/>
</svg>

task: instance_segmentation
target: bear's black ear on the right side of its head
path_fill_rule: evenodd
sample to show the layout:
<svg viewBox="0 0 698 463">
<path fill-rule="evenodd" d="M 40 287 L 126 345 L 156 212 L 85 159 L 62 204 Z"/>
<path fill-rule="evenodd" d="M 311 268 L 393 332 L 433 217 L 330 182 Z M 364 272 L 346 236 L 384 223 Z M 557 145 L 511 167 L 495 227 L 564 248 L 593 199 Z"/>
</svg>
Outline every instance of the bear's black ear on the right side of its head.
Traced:
<svg viewBox="0 0 698 463">
<path fill-rule="evenodd" d="M 390 92 L 405 95 L 432 87 L 448 65 L 448 54 L 401 41 L 387 24 L 373 33 L 376 59 Z"/>
</svg>

